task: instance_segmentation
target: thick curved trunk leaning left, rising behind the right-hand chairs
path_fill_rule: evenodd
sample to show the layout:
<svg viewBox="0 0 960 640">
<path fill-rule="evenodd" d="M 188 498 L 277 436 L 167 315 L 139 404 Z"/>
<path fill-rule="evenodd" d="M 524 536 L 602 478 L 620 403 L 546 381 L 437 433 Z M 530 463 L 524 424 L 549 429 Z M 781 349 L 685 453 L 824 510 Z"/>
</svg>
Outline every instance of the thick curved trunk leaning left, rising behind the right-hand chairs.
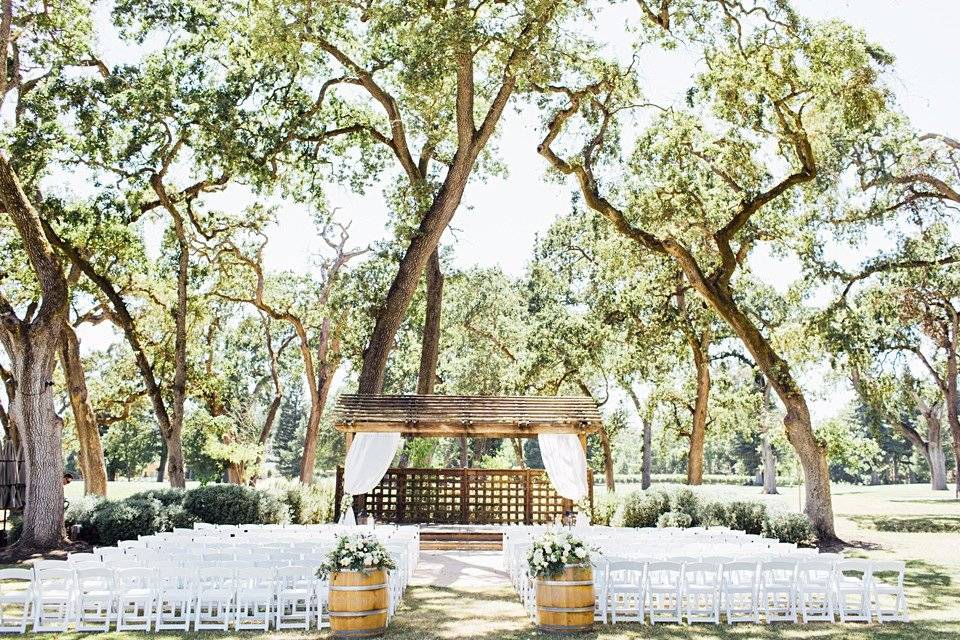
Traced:
<svg viewBox="0 0 960 640">
<path fill-rule="evenodd" d="M 760 333 L 747 314 L 740 310 L 729 292 L 721 290 L 715 283 L 707 280 L 700 266 L 683 247 L 673 241 L 664 243 L 664 246 L 667 252 L 677 260 L 694 289 L 740 338 L 757 364 L 757 368 L 770 382 L 786 408 L 787 413 L 783 418 L 783 424 L 787 441 L 797 452 L 806 484 L 804 511 L 810 518 L 821 543 L 836 541 L 826 447 L 813 433 L 807 399 L 800 385 L 793 378 L 790 365 L 774 350 L 773 345 Z M 960 454 L 960 448 L 958 448 L 958 454 Z"/>
</svg>

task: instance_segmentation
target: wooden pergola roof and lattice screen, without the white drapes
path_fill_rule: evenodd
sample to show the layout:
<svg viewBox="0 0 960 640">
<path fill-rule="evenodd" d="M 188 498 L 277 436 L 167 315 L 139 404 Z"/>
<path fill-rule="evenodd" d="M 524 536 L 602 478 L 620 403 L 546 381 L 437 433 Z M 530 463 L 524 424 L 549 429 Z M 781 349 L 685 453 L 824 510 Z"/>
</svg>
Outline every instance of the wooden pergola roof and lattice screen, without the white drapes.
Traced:
<svg viewBox="0 0 960 640">
<path fill-rule="evenodd" d="M 357 433 L 410 437 L 533 438 L 575 434 L 586 451 L 587 435 L 602 418 L 585 396 L 342 395 L 334 425 L 347 444 Z M 337 471 L 336 504 L 342 495 Z M 592 474 L 587 471 L 589 500 Z M 355 496 L 355 508 L 393 522 L 515 524 L 550 522 L 572 508 L 541 469 L 389 469 L 371 493 Z"/>
</svg>

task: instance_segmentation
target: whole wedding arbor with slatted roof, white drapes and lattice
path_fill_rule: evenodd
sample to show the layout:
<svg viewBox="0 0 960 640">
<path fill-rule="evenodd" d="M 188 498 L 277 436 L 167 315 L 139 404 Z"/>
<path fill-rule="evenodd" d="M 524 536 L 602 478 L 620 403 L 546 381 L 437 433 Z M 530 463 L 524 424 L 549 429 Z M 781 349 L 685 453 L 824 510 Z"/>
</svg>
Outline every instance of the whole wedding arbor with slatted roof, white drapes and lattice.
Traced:
<svg viewBox="0 0 960 640">
<path fill-rule="evenodd" d="M 534 524 L 593 503 L 586 438 L 601 417 L 587 397 L 343 395 L 334 420 L 348 446 L 336 503 L 353 495 L 378 520 Z M 404 435 L 535 437 L 545 469 L 389 468 Z"/>
</svg>

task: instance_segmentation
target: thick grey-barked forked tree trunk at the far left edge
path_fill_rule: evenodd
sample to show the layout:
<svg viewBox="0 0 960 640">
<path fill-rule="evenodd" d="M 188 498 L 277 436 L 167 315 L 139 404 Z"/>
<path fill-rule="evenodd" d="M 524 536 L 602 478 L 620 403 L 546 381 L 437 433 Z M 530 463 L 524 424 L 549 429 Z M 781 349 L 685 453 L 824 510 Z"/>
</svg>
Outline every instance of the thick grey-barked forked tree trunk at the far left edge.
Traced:
<svg viewBox="0 0 960 640">
<path fill-rule="evenodd" d="M 40 216 L 6 156 L 0 154 L 0 203 L 23 243 L 42 293 L 36 314 L 17 317 L 0 296 L 0 341 L 10 357 L 16 390 L 10 419 L 17 425 L 27 467 L 23 531 L 17 548 L 52 549 L 66 542 L 63 525 L 63 421 L 53 401 L 53 370 L 67 322 L 68 290 Z"/>
</svg>

